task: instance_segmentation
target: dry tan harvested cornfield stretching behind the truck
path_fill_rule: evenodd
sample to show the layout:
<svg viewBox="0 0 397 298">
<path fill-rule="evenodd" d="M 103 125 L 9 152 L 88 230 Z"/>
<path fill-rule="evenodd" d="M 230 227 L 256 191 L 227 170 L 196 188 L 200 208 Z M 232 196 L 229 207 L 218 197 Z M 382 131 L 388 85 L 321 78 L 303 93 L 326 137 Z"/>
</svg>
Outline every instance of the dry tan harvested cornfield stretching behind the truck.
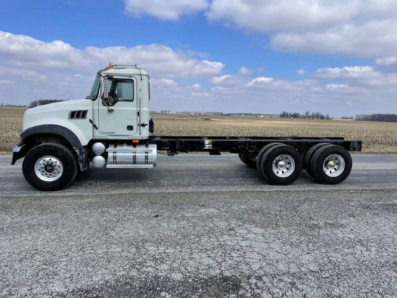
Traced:
<svg viewBox="0 0 397 298">
<path fill-rule="evenodd" d="M 24 109 L 0 108 L 0 151 L 10 152 L 22 129 Z M 397 152 L 397 123 L 233 116 L 152 114 L 156 135 L 327 136 L 363 141 L 365 152 Z"/>
</svg>

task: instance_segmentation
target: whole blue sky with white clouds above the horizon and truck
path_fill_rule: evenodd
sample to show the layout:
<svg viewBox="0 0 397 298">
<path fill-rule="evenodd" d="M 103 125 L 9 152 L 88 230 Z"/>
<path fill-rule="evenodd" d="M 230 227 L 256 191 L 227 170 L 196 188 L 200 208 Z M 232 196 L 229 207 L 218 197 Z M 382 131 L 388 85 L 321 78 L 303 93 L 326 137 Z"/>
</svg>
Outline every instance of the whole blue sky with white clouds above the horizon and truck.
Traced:
<svg viewBox="0 0 397 298">
<path fill-rule="evenodd" d="M 113 61 L 149 71 L 153 110 L 397 111 L 393 1 L 148 3 L 4 4 L 0 102 L 82 98 Z"/>
</svg>

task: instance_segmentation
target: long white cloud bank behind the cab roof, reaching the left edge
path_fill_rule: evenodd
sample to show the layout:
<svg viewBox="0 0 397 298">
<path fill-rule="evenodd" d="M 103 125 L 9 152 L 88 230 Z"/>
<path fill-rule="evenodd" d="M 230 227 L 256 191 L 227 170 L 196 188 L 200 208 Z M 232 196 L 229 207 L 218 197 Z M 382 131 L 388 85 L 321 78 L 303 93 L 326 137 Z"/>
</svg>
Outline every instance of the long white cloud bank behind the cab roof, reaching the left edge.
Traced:
<svg viewBox="0 0 397 298">
<path fill-rule="evenodd" d="M 109 61 L 135 64 L 152 76 L 200 77 L 219 74 L 221 62 L 199 61 L 182 51 L 161 44 L 135 47 L 73 48 L 63 41 L 43 42 L 26 35 L 0 31 L 0 65 L 34 71 L 78 71 L 94 73 Z"/>
</svg>

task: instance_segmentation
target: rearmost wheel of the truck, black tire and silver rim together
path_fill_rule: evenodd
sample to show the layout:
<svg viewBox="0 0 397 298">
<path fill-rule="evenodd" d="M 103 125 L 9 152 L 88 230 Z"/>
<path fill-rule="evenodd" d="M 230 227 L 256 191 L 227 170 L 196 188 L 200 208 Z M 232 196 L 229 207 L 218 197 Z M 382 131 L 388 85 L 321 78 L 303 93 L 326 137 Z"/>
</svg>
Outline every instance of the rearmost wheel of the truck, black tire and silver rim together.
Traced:
<svg viewBox="0 0 397 298">
<path fill-rule="evenodd" d="M 313 177 L 323 184 L 338 184 L 345 180 L 351 171 L 350 153 L 336 145 L 318 149 L 310 162 Z"/>
</svg>

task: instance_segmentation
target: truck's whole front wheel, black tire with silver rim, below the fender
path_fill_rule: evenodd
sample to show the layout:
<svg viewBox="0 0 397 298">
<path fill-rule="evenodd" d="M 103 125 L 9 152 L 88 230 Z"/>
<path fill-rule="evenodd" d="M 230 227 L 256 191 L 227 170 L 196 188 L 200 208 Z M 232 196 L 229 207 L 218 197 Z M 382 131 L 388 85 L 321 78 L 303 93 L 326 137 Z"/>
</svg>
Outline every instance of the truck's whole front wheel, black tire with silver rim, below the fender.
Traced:
<svg viewBox="0 0 397 298">
<path fill-rule="evenodd" d="M 45 143 L 31 149 L 23 159 L 26 181 L 38 190 L 55 191 L 68 186 L 77 175 L 77 161 L 70 149 Z"/>
</svg>

